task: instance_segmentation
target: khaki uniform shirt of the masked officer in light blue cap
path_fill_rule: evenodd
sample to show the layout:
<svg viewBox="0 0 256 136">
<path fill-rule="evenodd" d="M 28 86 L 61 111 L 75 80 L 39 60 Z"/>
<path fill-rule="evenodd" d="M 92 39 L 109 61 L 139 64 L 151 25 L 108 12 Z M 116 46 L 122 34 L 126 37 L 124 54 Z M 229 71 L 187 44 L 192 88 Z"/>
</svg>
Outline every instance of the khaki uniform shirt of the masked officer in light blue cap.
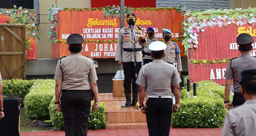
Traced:
<svg viewBox="0 0 256 136">
<path fill-rule="evenodd" d="M 181 55 L 180 53 L 175 53 L 176 46 L 175 43 L 170 41 L 169 44 L 166 44 L 167 48 L 165 49 L 165 57 L 163 58 L 163 61 L 175 64 L 175 61 L 177 61 L 177 69 L 178 71 L 182 71 L 182 65 L 181 65 Z"/>
</svg>

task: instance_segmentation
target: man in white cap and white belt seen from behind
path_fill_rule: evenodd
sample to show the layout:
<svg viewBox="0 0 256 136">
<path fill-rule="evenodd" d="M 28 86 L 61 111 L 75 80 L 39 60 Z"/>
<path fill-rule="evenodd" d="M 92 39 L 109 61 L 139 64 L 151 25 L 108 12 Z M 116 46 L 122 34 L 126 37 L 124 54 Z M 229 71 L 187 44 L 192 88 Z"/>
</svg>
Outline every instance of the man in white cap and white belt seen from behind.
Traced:
<svg viewBox="0 0 256 136">
<path fill-rule="evenodd" d="M 178 70 L 163 61 L 166 44 L 154 41 L 150 44 L 153 62 L 145 64 L 138 75 L 139 101 L 141 112 L 146 114 L 149 136 L 169 136 L 171 114 L 177 112 L 180 104 L 180 82 Z M 171 89 L 173 86 L 173 90 Z M 147 102 L 143 104 L 147 87 Z M 176 103 L 172 109 L 172 91 Z"/>
</svg>

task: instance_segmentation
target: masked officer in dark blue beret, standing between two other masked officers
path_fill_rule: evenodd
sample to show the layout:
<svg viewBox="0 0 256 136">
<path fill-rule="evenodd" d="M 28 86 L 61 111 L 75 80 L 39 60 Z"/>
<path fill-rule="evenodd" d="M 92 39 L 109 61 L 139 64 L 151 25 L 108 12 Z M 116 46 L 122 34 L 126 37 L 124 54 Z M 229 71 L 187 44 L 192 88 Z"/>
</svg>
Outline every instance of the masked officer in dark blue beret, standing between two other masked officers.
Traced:
<svg viewBox="0 0 256 136">
<path fill-rule="evenodd" d="M 142 54 L 143 54 L 143 65 L 150 63 L 153 61 L 151 57 L 151 50 L 148 49 L 148 46 L 154 42 L 158 41 L 156 37 L 154 37 L 154 29 L 151 27 L 147 28 L 147 44 L 145 46 L 142 46 Z"/>
</svg>

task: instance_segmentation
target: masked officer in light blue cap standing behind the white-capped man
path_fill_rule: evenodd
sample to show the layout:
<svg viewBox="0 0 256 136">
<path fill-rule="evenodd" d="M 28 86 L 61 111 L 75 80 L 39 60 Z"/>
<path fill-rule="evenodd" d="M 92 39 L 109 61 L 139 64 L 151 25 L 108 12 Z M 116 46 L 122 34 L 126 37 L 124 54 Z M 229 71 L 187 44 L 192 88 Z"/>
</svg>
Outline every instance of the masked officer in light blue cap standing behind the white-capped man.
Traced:
<svg viewBox="0 0 256 136">
<path fill-rule="evenodd" d="M 181 50 L 179 46 L 177 46 L 176 43 L 170 41 L 172 32 L 169 29 L 162 29 L 164 43 L 166 44 L 167 48 L 165 49 L 165 57 L 163 58 L 163 61 L 167 63 L 171 63 L 175 65 L 181 73 L 182 66 L 181 66 Z M 176 64 L 177 61 L 177 64 Z"/>
</svg>

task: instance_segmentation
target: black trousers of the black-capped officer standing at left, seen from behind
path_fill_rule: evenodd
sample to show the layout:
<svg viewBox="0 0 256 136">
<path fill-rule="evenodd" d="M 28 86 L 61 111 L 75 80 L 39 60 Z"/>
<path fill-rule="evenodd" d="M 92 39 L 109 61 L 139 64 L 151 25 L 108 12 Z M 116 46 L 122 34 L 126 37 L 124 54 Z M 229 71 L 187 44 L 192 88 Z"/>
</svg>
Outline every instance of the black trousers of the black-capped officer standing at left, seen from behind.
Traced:
<svg viewBox="0 0 256 136">
<path fill-rule="evenodd" d="M 90 91 L 62 90 L 60 101 L 66 136 L 87 136 Z"/>
</svg>

